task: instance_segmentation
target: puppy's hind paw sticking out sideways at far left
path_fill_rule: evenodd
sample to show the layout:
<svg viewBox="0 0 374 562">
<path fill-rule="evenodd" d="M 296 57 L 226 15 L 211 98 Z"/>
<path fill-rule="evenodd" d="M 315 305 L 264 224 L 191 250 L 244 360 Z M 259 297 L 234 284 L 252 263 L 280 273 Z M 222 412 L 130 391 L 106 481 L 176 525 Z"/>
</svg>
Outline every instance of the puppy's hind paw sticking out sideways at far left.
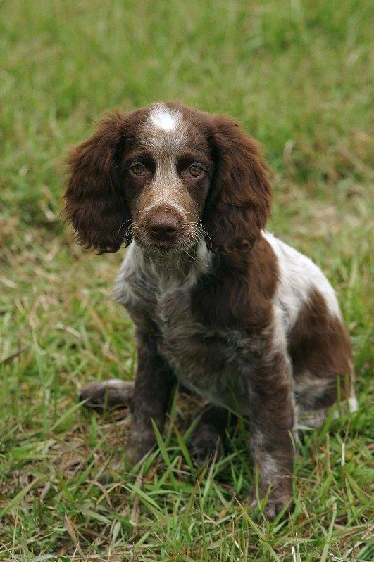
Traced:
<svg viewBox="0 0 374 562">
<path fill-rule="evenodd" d="M 78 400 L 87 400 L 85 406 L 103 409 L 115 406 L 129 406 L 134 394 L 133 381 L 120 381 L 111 378 L 109 381 L 94 381 L 80 389 Z"/>
</svg>

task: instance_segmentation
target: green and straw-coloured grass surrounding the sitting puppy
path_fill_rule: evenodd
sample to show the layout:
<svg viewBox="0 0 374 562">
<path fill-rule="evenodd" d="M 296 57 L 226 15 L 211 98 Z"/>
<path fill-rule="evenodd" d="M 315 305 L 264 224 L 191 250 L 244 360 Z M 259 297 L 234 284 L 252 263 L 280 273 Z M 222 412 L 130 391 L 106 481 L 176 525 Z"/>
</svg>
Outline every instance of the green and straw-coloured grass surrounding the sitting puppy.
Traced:
<svg viewBox="0 0 374 562">
<path fill-rule="evenodd" d="M 0 560 L 372 560 L 370 1 L 0 10 Z M 243 428 L 227 459 L 197 470 L 177 401 L 130 471 L 126 412 L 77 404 L 93 378 L 132 378 L 135 352 L 111 301 L 122 253 L 78 248 L 58 216 L 63 156 L 106 110 L 169 98 L 230 113 L 263 143 L 270 229 L 328 274 L 351 333 L 359 411 L 307 433 L 283 522 L 248 511 Z"/>
</svg>

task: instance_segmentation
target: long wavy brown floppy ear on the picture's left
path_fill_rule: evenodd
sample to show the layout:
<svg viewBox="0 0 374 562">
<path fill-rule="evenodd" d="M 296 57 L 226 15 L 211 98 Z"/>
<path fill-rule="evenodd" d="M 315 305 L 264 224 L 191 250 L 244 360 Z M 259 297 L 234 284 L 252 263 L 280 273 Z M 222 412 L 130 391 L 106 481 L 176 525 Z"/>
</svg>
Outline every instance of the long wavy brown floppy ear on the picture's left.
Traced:
<svg viewBox="0 0 374 562">
<path fill-rule="evenodd" d="M 113 113 L 90 139 L 73 148 L 67 160 L 63 215 L 73 223 L 78 241 L 99 254 L 120 248 L 124 241 L 120 227 L 130 219 L 119 177 L 123 123 L 124 116 Z"/>
</svg>

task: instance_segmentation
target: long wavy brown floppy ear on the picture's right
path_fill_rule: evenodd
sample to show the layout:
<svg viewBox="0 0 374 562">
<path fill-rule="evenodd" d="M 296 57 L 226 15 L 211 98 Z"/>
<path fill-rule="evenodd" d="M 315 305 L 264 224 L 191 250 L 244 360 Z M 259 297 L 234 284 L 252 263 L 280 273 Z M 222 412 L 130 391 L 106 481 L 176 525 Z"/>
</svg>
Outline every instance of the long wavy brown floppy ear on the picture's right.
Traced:
<svg viewBox="0 0 374 562">
<path fill-rule="evenodd" d="M 228 117 L 213 117 L 210 141 L 215 172 L 204 226 L 213 252 L 247 250 L 270 215 L 268 167 L 258 143 Z"/>
</svg>

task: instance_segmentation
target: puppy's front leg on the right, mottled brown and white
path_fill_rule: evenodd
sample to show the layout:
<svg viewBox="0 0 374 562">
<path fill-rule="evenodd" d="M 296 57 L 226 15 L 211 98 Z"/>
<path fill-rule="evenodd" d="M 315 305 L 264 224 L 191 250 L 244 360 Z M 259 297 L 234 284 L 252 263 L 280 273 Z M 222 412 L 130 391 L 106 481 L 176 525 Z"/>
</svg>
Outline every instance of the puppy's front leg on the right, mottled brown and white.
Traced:
<svg viewBox="0 0 374 562">
<path fill-rule="evenodd" d="M 292 498 L 294 402 L 292 366 L 287 351 L 263 352 L 251 381 L 249 447 L 258 471 L 262 499 L 270 489 L 264 513 L 273 519 Z M 254 487 L 252 506 L 256 506 Z"/>
</svg>

